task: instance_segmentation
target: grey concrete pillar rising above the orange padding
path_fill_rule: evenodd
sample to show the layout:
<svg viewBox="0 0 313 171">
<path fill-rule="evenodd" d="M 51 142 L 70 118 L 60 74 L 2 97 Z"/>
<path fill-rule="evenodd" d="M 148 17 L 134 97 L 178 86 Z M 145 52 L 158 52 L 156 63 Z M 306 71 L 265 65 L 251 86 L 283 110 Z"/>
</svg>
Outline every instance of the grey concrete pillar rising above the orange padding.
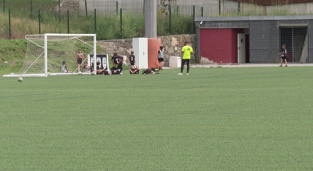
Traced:
<svg viewBox="0 0 313 171">
<path fill-rule="evenodd" d="M 145 1 L 145 37 L 156 38 L 156 0 Z"/>
</svg>

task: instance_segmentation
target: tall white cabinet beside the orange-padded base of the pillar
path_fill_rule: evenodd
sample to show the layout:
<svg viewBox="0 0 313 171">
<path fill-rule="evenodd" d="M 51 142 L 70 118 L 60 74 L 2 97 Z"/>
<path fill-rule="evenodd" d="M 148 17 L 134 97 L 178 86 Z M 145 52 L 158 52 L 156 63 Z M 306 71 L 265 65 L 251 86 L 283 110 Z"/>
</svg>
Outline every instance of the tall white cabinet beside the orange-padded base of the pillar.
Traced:
<svg viewBox="0 0 313 171">
<path fill-rule="evenodd" d="M 148 68 L 148 38 L 133 38 L 133 51 L 136 65 L 139 68 Z"/>
</svg>

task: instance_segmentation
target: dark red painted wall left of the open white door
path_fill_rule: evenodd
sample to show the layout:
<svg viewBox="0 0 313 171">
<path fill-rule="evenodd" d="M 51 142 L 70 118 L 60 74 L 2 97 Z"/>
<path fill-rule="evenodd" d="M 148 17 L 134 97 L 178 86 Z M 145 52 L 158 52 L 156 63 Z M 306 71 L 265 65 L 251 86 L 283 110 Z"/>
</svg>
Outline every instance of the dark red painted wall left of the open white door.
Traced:
<svg viewBox="0 0 313 171">
<path fill-rule="evenodd" d="M 237 33 L 243 28 L 200 29 L 200 56 L 216 63 L 237 63 Z"/>
</svg>

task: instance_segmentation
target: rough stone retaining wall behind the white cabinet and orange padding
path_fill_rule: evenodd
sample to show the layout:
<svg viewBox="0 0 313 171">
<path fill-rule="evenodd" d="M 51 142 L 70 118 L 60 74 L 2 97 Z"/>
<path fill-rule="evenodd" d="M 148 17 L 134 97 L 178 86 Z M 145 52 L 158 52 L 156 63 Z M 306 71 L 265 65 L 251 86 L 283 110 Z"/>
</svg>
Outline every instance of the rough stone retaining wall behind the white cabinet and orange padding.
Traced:
<svg viewBox="0 0 313 171">
<path fill-rule="evenodd" d="M 162 46 L 164 47 L 164 66 L 168 66 L 170 56 L 182 57 L 181 50 L 185 41 L 189 42 L 189 45 L 195 51 L 195 35 L 173 35 L 173 36 L 160 36 L 162 40 Z M 98 44 L 105 49 L 109 56 L 113 56 L 114 52 L 118 55 L 122 55 L 127 64 L 129 64 L 129 55 L 133 50 L 132 39 L 119 39 L 119 40 L 99 40 Z M 135 54 L 136 56 L 136 54 Z M 194 53 L 191 55 L 191 61 L 195 60 Z"/>
</svg>

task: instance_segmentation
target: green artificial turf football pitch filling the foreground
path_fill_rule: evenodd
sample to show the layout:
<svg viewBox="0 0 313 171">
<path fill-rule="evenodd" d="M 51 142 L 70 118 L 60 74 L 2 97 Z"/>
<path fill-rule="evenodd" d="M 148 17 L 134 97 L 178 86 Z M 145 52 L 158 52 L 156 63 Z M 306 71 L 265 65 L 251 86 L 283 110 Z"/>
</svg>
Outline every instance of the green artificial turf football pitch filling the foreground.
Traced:
<svg viewBox="0 0 313 171">
<path fill-rule="evenodd" d="M 312 67 L 178 73 L 0 78 L 0 170 L 313 169 Z"/>
</svg>

